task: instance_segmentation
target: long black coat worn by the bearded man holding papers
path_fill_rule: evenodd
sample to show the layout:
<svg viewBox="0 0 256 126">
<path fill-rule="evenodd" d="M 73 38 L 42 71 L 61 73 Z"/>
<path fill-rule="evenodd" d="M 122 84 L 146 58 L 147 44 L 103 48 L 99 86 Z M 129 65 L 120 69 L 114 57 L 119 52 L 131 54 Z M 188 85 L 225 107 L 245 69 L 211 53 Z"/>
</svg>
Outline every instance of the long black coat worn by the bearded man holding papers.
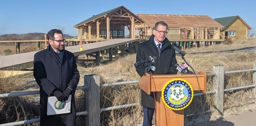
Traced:
<svg viewBox="0 0 256 126">
<path fill-rule="evenodd" d="M 40 86 L 40 125 L 75 125 L 76 106 L 75 90 L 79 83 L 80 74 L 77 70 L 74 54 L 64 50 L 60 62 L 51 49 L 51 45 L 34 56 L 34 77 Z M 70 114 L 47 116 L 47 98 L 53 95 L 55 89 L 64 91 L 67 87 L 73 89 Z"/>
</svg>

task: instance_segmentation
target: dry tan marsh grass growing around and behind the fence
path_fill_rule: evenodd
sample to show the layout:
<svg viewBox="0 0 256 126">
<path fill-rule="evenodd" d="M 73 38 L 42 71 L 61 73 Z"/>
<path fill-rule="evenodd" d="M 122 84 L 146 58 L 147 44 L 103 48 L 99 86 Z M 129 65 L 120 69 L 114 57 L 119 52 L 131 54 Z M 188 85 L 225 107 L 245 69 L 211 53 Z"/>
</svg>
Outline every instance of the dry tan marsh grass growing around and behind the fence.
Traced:
<svg viewBox="0 0 256 126">
<path fill-rule="evenodd" d="M 229 49 L 239 49 L 244 47 L 255 47 L 256 39 L 229 40 L 221 44 L 209 45 L 208 47 L 189 48 L 184 51 L 184 57 L 198 72 L 213 72 L 214 65 L 223 65 L 225 71 L 253 69 L 256 62 L 256 52 L 234 52 L 234 53 L 209 53 L 209 54 L 189 54 L 193 52 L 225 51 Z M 3 48 L 0 51 L 2 53 Z M 136 54 L 128 54 L 125 57 L 114 59 L 112 62 L 104 62 L 98 66 L 88 65 L 88 62 L 79 62 L 80 82 L 84 85 L 84 75 L 100 75 L 101 83 L 134 81 L 140 77 L 135 71 Z M 181 57 L 177 57 L 178 64 L 184 62 Z M 4 72 L 0 73 L 0 94 L 14 93 L 17 91 L 39 90 L 39 86 L 34 81 L 32 74 L 3 78 Z M 225 75 L 225 88 L 240 87 L 253 83 L 253 72 L 242 72 Z M 101 89 L 100 107 L 112 107 L 122 104 L 140 103 L 141 90 L 137 84 L 123 86 L 109 86 Z M 207 91 L 212 90 L 212 78 L 207 78 Z M 255 99 L 253 89 L 243 89 L 228 91 L 224 93 L 224 114 L 237 115 L 247 110 L 255 110 L 255 103 L 249 103 Z M 84 93 L 82 90 L 76 91 L 77 111 L 84 111 Z M 217 117 L 213 112 L 201 113 L 213 110 L 213 95 L 195 97 L 187 108 L 185 115 L 185 125 L 197 123 L 212 117 Z M 16 96 L 0 99 L 0 124 L 12 121 L 22 121 L 39 117 L 39 95 Z M 101 112 L 101 125 L 138 125 L 142 123 L 142 106 L 127 107 L 112 111 Z M 77 116 L 76 124 L 84 123 L 83 116 Z M 39 123 L 27 124 L 39 125 Z"/>
</svg>

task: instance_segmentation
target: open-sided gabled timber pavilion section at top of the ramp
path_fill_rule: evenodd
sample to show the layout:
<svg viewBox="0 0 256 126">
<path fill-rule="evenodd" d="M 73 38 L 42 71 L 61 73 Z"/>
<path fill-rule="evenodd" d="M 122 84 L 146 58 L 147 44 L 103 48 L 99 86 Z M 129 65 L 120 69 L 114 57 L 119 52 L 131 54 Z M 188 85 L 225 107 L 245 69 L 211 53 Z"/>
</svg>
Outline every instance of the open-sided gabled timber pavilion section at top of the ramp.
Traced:
<svg viewBox="0 0 256 126">
<path fill-rule="evenodd" d="M 129 38 L 135 38 L 135 26 L 141 26 L 144 21 L 124 6 L 93 15 L 74 26 L 77 35 L 82 39 L 112 39 L 125 38 L 125 28 L 130 31 Z"/>
</svg>

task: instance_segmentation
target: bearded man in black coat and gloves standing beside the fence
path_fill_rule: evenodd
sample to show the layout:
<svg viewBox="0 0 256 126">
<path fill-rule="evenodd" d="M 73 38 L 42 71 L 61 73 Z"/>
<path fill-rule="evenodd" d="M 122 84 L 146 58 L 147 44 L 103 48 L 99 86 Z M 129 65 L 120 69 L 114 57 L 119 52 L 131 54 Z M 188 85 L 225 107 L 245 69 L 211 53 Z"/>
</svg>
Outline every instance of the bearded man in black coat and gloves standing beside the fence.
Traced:
<svg viewBox="0 0 256 126">
<path fill-rule="evenodd" d="M 75 56 L 65 50 L 61 30 L 50 30 L 47 39 L 47 49 L 34 56 L 34 77 L 40 86 L 40 125 L 75 125 L 75 91 L 80 79 Z M 47 115 L 48 96 L 56 96 L 64 102 L 69 95 L 72 95 L 70 113 Z"/>
</svg>

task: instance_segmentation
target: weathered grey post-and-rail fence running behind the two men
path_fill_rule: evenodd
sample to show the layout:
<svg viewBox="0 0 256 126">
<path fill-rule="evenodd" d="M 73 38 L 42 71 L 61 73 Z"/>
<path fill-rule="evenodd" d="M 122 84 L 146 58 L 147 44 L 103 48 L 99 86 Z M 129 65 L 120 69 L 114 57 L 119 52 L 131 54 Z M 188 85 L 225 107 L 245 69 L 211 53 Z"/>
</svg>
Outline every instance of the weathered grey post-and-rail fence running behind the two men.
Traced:
<svg viewBox="0 0 256 126">
<path fill-rule="evenodd" d="M 199 95 L 208 95 L 214 94 L 214 106 L 218 114 L 222 115 L 224 112 L 224 93 L 225 91 L 232 91 L 232 90 L 241 90 L 241 89 L 249 89 L 253 88 L 254 94 L 253 96 L 256 97 L 256 88 L 255 88 L 255 81 L 256 81 L 256 64 L 254 64 L 253 69 L 247 70 L 235 70 L 235 71 L 224 71 L 224 66 L 217 65 L 213 66 L 213 73 L 208 73 L 207 76 L 213 76 L 213 90 L 207 91 L 207 93 L 196 93 L 194 96 Z M 241 87 L 232 87 L 230 89 L 224 89 L 224 76 L 225 74 L 231 73 L 241 73 L 241 72 L 253 72 L 253 83 L 241 86 Z M 123 104 L 122 106 L 114 106 L 114 107 L 107 107 L 107 108 L 100 108 L 100 88 L 104 86 L 117 86 L 117 85 L 127 85 L 127 84 L 134 84 L 138 83 L 138 81 L 126 81 L 126 82 L 114 82 L 114 83 L 100 83 L 100 76 L 99 75 L 85 75 L 84 76 L 84 86 L 77 87 L 77 90 L 84 90 L 85 95 L 85 110 L 81 112 L 77 112 L 76 115 L 85 116 L 85 125 L 100 125 L 100 113 L 102 111 L 109 111 L 119 108 L 131 107 L 131 106 L 138 106 L 139 103 L 131 103 L 131 104 Z M 39 94 L 39 91 L 24 91 L 19 93 L 7 93 L 7 94 L 0 94 L 0 98 L 11 97 L 11 96 L 21 96 L 21 95 L 32 95 L 32 94 Z M 252 100 L 250 103 L 255 103 Z M 98 106 L 96 106 L 98 104 Z M 214 110 L 208 110 L 214 111 Z M 186 115 L 186 116 L 191 116 Z M 0 124 L 3 125 L 22 125 L 22 124 L 30 124 L 39 122 L 40 119 L 32 119 L 32 120 L 24 120 L 24 121 L 16 121 L 12 123 L 5 123 Z"/>
</svg>

